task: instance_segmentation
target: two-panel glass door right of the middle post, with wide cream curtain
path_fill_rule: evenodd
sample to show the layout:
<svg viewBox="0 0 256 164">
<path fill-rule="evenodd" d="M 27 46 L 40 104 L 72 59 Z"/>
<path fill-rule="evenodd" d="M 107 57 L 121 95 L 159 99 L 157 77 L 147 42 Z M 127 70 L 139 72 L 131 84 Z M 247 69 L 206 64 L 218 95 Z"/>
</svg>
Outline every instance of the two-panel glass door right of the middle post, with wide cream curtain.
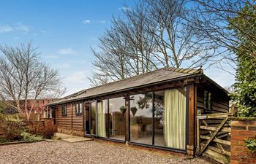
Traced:
<svg viewBox="0 0 256 164">
<path fill-rule="evenodd" d="M 184 88 L 131 95 L 130 141 L 186 149 L 186 104 Z"/>
</svg>

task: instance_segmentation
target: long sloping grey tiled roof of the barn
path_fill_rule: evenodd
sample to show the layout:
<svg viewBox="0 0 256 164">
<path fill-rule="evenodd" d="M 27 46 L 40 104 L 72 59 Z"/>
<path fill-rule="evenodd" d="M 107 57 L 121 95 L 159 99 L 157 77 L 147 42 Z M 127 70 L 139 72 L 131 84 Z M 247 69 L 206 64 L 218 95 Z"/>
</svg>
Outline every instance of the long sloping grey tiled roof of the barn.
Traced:
<svg viewBox="0 0 256 164">
<path fill-rule="evenodd" d="M 77 93 L 67 95 L 58 101 L 53 101 L 48 105 L 63 104 L 65 102 L 76 101 L 82 98 L 91 98 L 93 96 L 118 92 L 121 90 L 129 90 L 133 87 L 140 87 L 143 85 L 150 85 L 156 82 L 164 82 L 170 79 L 186 78 L 193 74 L 203 74 L 202 69 L 175 69 L 164 68 L 150 71 L 145 74 L 140 74 L 135 77 L 129 77 L 127 79 L 121 79 L 116 82 L 110 82 L 105 85 L 97 87 L 91 87 L 86 90 L 81 90 Z"/>
</svg>

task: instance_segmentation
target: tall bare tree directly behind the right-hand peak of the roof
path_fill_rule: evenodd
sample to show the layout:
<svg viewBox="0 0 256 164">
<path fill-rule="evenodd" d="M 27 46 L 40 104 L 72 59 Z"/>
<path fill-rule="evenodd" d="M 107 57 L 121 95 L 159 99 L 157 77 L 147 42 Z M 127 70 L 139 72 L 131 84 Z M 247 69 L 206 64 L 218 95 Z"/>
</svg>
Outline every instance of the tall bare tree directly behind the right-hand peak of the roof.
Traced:
<svg viewBox="0 0 256 164">
<path fill-rule="evenodd" d="M 195 68 L 205 65 L 216 53 L 214 44 L 198 37 L 189 21 L 192 10 L 186 0 L 146 0 L 150 7 L 148 23 L 157 44 L 157 58 L 164 66 Z"/>
</svg>

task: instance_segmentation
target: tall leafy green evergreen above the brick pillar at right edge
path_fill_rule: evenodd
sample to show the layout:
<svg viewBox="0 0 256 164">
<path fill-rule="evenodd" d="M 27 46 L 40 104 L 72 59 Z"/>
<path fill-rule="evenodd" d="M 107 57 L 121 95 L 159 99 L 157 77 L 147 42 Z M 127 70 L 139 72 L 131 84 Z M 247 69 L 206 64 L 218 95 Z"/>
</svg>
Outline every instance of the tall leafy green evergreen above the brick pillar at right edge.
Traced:
<svg viewBox="0 0 256 164">
<path fill-rule="evenodd" d="M 234 36 L 241 42 L 233 49 L 238 68 L 235 92 L 231 98 L 238 106 L 240 117 L 256 117 L 256 10 L 246 4 L 240 12 L 243 15 L 230 18 L 230 30 L 234 31 Z"/>
</svg>

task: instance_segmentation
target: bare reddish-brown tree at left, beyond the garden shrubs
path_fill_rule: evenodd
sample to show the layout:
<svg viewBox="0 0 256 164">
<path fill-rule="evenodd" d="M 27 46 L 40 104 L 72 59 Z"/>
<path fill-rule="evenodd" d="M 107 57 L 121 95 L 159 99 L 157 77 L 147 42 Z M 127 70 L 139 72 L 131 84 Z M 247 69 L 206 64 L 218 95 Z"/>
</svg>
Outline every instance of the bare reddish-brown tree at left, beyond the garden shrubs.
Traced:
<svg viewBox="0 0 256 164">
<path fill-rule="evenodd" d="M 29 120 L 37 98 L 57 98 L 65 88 L 58 71 L 43 63 L 31 43 L 20 47 L 1 46 L 0 99 Z"/>
</svg>

